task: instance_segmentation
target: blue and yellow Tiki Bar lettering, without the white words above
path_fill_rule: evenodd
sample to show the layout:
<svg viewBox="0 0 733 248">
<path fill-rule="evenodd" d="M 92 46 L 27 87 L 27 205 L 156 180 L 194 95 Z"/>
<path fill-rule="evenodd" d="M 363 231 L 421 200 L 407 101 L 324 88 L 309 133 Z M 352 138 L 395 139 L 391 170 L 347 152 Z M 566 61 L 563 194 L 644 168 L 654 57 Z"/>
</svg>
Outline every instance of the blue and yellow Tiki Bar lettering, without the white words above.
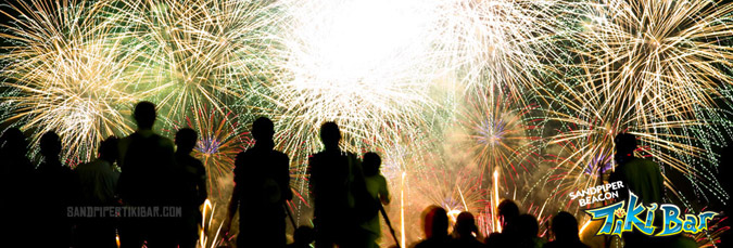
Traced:
<svg viewBox="0 0 733 248">
<path fill-rule="evenodd" d="M 659 207 L 659 208 L 657 208 Z M 659 211 L 657 211 L 659 210 Z M 614 205 L 585 210 L 593 220 L 603 220 L 603 226 L 596 235 L 615 235 L 621 237 L 625 232 L 633 229 L 646 235 L 671 236 L 682 232 L 696 234 L 708 229 L 708 221 L 718 216 L 716 212 L 706 211 L 698 216 L 682 214 L 680 208 L 670 204 L 650 204 L 644 206 L 639 197 L 629 193 L 629 200 L 622 200 Z M 661 217 L 658 214 L 661 213 Z M 661 222 L 655 220 L 661 218 Z M 655 226 L 655 223 L 661 226 Z M 661 232 L 655 234 L 655 231 Z"/>
</svg>

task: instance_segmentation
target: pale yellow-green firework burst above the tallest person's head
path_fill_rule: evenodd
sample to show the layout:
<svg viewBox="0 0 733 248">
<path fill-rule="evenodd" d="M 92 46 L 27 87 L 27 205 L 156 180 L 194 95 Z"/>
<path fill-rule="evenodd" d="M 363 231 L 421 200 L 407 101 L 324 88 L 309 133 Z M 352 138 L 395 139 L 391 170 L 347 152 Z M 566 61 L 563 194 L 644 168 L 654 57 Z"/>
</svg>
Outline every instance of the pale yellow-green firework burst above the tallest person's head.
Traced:
<svg viewBox="0 0 733 248">
<path fill-rule="evenodd" d="M 128 42 L 142 50 L 138 62 L 163 116 L 177 119 L 187 108 L 222 113 L 248 93 L 267 69 L 268 41 L 277 24 L 269 1 L 123 1 L 113 9 Z"/>
</svg>

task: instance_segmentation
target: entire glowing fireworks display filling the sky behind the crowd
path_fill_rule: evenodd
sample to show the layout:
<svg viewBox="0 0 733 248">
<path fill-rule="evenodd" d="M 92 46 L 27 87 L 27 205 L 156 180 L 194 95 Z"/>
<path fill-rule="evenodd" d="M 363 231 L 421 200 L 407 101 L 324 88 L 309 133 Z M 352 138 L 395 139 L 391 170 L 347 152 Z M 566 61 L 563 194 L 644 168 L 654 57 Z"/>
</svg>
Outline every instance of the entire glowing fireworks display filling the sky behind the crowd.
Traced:
<svg viewBox="0 0 733 248">
<path fill-rule="evenodd" d="M 666 175 L 688 179 L 692 194 L 668 177 L 668 196 L 729 198 L 708 164 L 733 127 L 721 109 L 733 105 L 733 3 L 34 0 L 11 9 L 21 15 L 5 13 L 13 22 L 0 35 L 0 118 L 36 138 L 55 130 L 67 158 L 88 159 L 101 139 L 130 132 L 128 110 L 144 99 L 166 125 L 201 133 L 195 156 L 212 195 L 250 143 L 236 120 L 264 114 L 295 165 L 295 192 L 325 121 L 341 126 L 345 149 L 379 151 L 388 179 L 409 179 L 393 191 L 406 193 L 403 225 L 437 204 L 478 212 L 493 231 L 486 203 L 529 181 L 538 183 L 518 201 L 545 220 L 547 208 L 568 205 L 568 190 L 597 184 L 615 166 L 619 132 L 636 134 L 636 153 L 671 168 Z M 403 243 L 419 236 L 407 235 Z"/>
</svg>

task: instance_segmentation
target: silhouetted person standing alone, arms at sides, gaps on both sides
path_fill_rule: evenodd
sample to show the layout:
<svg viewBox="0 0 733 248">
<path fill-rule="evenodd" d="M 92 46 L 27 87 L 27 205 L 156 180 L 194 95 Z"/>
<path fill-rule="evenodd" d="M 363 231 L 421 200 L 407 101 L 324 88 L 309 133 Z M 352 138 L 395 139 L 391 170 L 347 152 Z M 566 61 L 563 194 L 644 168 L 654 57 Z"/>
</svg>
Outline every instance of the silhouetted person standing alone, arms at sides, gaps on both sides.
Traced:
<svg viewBox="0 0 733 248">
<path fill-rule="evenodd" d="M 262 247 L 286 246 L 286 200 L 290 191 L 290 159 L 275 151 L 274 123 L 265 117 L 252 123 L 254 146 L 237 155 L 235 190 L 225 222 L 228 227 L 239 208 L 238 247 L 260 244 Z"/>
</svg>

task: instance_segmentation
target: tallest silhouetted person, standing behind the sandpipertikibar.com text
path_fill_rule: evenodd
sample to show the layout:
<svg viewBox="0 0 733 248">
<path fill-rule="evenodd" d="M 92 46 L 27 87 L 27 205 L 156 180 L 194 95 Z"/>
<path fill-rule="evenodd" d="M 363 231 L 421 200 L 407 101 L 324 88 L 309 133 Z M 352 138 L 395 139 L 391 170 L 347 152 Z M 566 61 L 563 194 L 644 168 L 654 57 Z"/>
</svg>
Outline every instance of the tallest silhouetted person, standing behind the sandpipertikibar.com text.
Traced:
<svg viewBox="0 0 733 248">
<path fill-rule="evenodd" d="M 119 141 L 118 194 L 130 209 L 119 230 L 122 247 L 174 247 L 174 217 L 165 217 L 163 208 L 173 207 L 174 194 L 174 145 L 173 142 L 153 132 L 155 104 L 140 102 L 134 113 L 137 130 Z M 142 216 L 142 210 L 146 214 Z M 151 217 L 152 216 L 152 217 Z"/>
</svg>

